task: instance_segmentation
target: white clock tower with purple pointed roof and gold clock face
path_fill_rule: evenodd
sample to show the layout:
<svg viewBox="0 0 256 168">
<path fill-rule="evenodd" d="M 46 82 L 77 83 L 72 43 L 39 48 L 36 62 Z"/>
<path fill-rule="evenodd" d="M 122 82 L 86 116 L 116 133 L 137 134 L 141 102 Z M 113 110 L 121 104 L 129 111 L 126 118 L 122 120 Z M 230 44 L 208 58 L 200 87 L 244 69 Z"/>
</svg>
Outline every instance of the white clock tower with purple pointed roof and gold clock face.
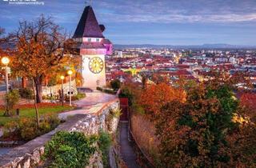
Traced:
<svg viewBox="0 0 256 168">
<path fill-rule="evenodd" d="M 106 86 L 106 54 L 112 54 L 112 43 L 102 32 L 105 26 L 98 25 L 94 10 L 86 6 L 74 32 L 74 40 L 82 56 L 83 87 L 95 90 Z"/>
</svg>

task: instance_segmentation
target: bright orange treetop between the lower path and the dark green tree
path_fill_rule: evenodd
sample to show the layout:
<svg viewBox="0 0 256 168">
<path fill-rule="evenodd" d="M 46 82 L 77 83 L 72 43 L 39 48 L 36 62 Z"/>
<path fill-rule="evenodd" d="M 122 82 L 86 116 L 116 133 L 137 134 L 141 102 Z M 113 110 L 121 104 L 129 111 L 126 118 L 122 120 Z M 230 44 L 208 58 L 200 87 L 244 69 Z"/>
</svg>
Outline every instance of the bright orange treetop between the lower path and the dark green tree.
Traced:
<svg viewBox="0 0 256 168">
<path fill-rule="evenodd" d="M 144 107 L 147 113 L 158 114 L 162 106 L 174 100 L 185 102 L 186 93 L 184 90 L 174 89 L 162 82 L 157 85 L 147 86 L 139 98 L 139 104 Z"/>
</svg>

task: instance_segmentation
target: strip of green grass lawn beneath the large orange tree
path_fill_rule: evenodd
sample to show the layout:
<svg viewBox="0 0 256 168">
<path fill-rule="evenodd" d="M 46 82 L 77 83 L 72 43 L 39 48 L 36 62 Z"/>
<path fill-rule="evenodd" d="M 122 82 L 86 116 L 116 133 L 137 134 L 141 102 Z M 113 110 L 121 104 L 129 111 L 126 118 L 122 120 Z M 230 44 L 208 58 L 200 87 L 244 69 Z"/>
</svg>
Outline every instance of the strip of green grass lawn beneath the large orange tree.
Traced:
<svg viewBox="0 0 256 168">
<path fill-rule="evenodd" d="M 72 110 L 74 107 L 70 106 L 42 106 L 38 107 L 39 115 L 42 114 L 54 114 L 60 113 L 65 110 Z M 35 110 L 34 108 L 21 108 L 20 109 L 20 117 L 31 117 L 35 118 Z M 4 110 L 0 110 L 0 126 L 4 126 L 6 122 L 17 120 L 17 117 L 5 117 L 3 116 Z"/>
</svg>

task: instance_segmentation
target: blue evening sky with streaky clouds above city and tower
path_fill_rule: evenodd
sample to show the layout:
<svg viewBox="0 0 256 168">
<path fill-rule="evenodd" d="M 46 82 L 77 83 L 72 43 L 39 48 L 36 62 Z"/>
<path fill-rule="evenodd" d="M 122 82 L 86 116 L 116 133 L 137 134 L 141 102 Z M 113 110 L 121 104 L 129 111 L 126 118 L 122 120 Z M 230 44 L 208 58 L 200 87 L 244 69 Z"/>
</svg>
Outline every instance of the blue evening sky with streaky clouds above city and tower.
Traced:
<svg viewBox="0 0 256 168">
<path fill-rule="evenodd" d="M 44 14 L 74 34 L 90 4 L 89 0 L 26 0 L 39 5 L 10 1 L 0 0 L 0 26 L 6 32 L 17 30 L 19 21 Z M 106 26 L 105 37 L 114 44 L 256 46 L 256 0 L 92 0 L 91 5 L 99 24 Z"/>
</svg>

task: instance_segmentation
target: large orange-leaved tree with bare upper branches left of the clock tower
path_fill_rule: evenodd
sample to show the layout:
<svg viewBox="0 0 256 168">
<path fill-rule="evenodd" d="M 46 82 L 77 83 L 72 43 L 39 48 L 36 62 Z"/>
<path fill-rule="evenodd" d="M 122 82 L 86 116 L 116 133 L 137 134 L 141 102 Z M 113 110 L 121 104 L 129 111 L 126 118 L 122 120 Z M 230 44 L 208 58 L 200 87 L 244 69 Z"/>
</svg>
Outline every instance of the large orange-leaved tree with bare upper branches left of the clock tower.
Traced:
<svg viewBox="0 0 256 168">
<path fill-rule="evenodd" d="M 17 52 L 11 68 L 14 74 L 34 81 L 36 101 L 42 102 L 44 78 L 69 60 L 65 54 L 70 54 L 74 43 L 51 18 L 44 16 L 34 22 L 20 22 L 15 39 Z"/>
</svg>

